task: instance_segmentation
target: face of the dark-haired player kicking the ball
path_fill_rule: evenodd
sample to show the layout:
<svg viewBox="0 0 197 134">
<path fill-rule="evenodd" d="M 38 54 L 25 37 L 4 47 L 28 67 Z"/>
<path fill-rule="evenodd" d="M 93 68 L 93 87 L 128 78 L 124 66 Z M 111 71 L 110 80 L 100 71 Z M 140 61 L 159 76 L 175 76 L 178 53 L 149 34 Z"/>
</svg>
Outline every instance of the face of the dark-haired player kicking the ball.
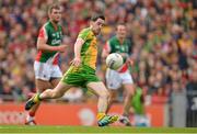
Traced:
<svg viewBox="0 0 197 134">
<path fill-rule="evenodd" d="M 105 21 L 102 19 L 97 19 L 95 22 L 92 22 L 92 30 L 94 32 L 94 34 L 100 34 L 101 29 L 103 27 L 103 25 L 105 24 Z"/>
</svg>

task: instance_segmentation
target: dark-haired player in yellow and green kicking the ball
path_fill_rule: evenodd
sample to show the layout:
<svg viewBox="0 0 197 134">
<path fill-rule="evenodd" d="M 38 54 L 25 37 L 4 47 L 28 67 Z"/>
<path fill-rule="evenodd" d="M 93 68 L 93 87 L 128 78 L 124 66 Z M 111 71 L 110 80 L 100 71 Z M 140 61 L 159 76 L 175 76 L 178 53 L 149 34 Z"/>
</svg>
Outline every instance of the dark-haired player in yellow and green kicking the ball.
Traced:
<svg viewBox="0 0 197 134">
<path fill-rule="evenodd" d="M 90 27 L 82 30 L 74 43 L 74 58 L 62 79 L 53 90 L 47 89 L 30 99 L 25 104 L 26 110 L 44 99 L 60 98 L 72 87 L 85 87 L 99 97 L 96 116 L 99 126 L 106 126 L 118 120 L 117 115 L 106 114 L 109 92 L 95 75 L 96 35 L 100 34 L 104 24 L 105 18 L 103 14 L 91 18 Z"/>
</svg>

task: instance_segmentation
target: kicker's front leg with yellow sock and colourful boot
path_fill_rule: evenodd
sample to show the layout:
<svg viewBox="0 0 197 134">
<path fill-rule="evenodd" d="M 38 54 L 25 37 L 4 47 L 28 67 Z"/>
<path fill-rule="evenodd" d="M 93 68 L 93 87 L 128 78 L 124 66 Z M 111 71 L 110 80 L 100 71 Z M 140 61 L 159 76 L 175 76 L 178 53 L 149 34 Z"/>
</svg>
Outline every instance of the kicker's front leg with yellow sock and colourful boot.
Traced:
<svg viewBox="0 0 197 134">
<path fill-rule="evenodd" d="M 106 126 L 118 120 L 117 115 L 107 115 L 107 107 L 109 101 L 109 92 L 103 82 L 90 82 L 86 85 L 97 97 L 97 124 L 99 126 Z"/>
</svg>

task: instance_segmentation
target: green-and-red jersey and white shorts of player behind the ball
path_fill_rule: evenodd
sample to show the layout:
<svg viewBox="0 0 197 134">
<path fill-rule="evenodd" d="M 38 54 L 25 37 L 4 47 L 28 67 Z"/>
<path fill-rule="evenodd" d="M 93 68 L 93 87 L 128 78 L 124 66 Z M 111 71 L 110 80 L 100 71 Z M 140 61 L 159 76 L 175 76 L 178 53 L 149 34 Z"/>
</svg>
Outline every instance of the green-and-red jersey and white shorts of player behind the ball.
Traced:
<svg viewBox="0 0 197 134">
<path fill-rule="evenodd" d="M 124 42 L 120 44 L 119 40 L 117 36 L 113 36 L 111 40 L 107 41 L 105 44 L 104 49 L 107 51 L 109 54 L 111 53 L 124 53 L 124 65 L 116 71 L 107 68 L 106 71 L 106 83 L 107 87 L 112 90 L 117 90 L 118 88 L 121 87 L 121 83 L 132 83 L 132 78 L 128 69 L 128 63 L 126 62 L 127 58 L 130 55 L 130 48 L 131 44 L 130 42 L 126 38 Z"/>
</svg>

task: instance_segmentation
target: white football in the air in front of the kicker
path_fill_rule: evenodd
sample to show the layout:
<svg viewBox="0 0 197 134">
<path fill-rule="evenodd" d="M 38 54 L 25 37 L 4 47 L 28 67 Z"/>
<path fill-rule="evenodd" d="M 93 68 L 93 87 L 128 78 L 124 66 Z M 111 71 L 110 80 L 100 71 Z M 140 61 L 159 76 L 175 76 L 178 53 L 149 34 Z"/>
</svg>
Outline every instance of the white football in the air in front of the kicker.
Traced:
<svg viewBox="0 0 197 134">
<path fill-rule="evenodd" d="M 118 53 L 112 53 L 106 58 L 106 66 L 113 70 L 117 70 L 123 66 L 123 57 Z"/>
</svg>

